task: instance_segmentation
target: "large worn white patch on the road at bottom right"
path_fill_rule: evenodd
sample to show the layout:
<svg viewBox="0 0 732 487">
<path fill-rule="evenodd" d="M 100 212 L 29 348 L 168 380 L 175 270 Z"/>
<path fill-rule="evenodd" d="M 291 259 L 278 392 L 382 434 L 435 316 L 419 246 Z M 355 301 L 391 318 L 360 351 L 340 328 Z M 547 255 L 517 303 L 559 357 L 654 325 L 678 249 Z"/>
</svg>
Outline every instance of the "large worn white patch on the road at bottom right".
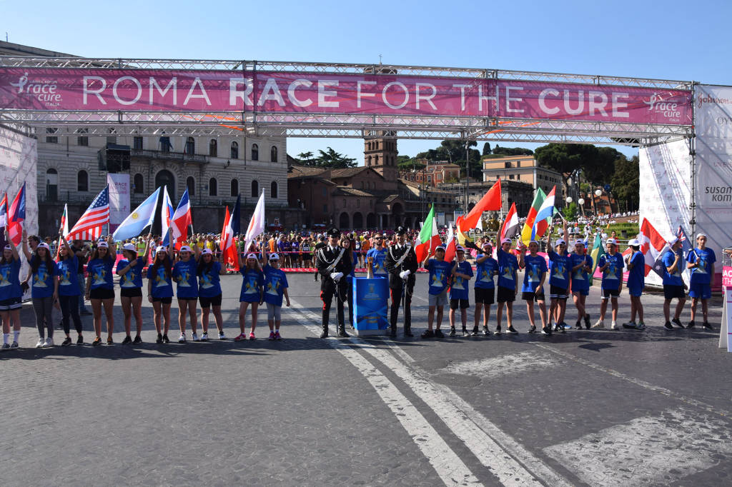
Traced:
<svg viewBox="0 0 732 487">
<path fill-rule="evenodd" d="M 732 442 L 725 421 L 668 410 L 544 452 L 591 486 L 666 486 L 718 464 Z"/>
</svg>

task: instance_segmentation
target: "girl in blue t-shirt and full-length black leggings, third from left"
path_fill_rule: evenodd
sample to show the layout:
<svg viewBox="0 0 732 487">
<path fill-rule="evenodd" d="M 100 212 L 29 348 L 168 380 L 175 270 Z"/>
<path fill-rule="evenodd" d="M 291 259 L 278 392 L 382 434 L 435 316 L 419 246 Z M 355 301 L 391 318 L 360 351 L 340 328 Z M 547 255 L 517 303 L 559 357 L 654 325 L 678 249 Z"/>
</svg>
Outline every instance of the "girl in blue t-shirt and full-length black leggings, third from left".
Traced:
<svg viewBox="0 0 732 487">
<path fill-rule="evenodd" d="M 69 317 L 74 320 L 74 328 L 78 337 L 76 344 L 84 343 L 81 336 L 81 317 L 79 317 L 79 290 L 78 268 L 79 260 L 72 251 L 64 235 L 59 235 L 59 262 L 53 271 L 53 294 L 59 299 L 61 316 L 63 317 L 64 331 L 69 332 Z M 101 340 L 98 344 L 101 343 Z"/>
</svg>

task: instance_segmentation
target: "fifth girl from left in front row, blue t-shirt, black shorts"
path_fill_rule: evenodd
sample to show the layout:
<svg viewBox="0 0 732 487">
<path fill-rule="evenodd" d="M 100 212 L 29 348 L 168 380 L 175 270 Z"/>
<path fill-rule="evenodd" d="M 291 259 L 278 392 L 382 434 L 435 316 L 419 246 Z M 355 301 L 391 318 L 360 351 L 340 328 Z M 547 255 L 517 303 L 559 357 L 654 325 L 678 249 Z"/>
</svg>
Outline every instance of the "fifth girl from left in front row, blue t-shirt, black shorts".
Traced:
<svg viewBox="0 0 732 487">
<path fill-rule="evenodd" d="M 142 237 L 140 238 L 142 240 Z M 122 344 L 132 343 L 130 328 L 132 328 L 132 314 L 135 314 L 135 344 L 142 343 L 142 273 L 145 270 L 150 255 L 152 235 L 146 238 L 145 250 L 142 257 L 138 257 L 138 248 L 134 243 L 125 243 L 122 246 L 122 260 L 117 263 L 117 275 L 119 276 L 119 302 L 122 305 L 124 314 L 124 333 L 127 336 Z"/>
</svg>

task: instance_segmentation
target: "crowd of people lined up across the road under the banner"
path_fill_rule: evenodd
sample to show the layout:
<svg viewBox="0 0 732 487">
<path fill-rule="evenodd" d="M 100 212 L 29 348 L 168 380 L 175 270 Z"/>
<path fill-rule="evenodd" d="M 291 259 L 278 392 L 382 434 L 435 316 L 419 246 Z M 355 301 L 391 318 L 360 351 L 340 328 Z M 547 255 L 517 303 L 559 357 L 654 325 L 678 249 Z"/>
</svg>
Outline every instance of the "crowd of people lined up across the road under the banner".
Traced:
<svg viewBox="0 0 732 487">
<path fill-rule="evenodd" d="M 244 241 L 239 241 L 238 268 L 242 274 L 242 288 L 239 297 L 239 334 L 235 341 L 255 339 L 258 323 L 258 308 L 266 304 L 269 339 L 281 339 L 281 307 L 290 306 L 288 281 L 281 267 L 294 266 L 315 268 L 315 280 L 321 280 L 321 300 L 323 301 L 321 337 L 329 335 L 329 315 L 333 298 L 337 302 L 337 334 L 346 333 L 345 306 L 348 306 L 349 323 L 353 319 L 353 295 L 351 279 L 356 266 L 366 266 L 373 276 L 389 279 L 390 312 L 389 335 L 396 336 L 400 307 L 403 308 L 403 331 L 411 333 L 411 298 L 416 283 L 417 270 L 426 269 L 428 283 L 427 330 L 422 338 L 440 338 L 444 318 L 444 306 L 449 306 L 449 334 L 455 335 L 457 320 L 464 335 L 482 333 L 501 333 L 503 317 L 506 317 L 506 332 L 518 333 L 513 320 L 513 303 L 519 296 L 526 302 L 529 316 L 529 333 L 540 332 L 550 335 L 564 333 L 567 328 L 567 301 L 572 298 L 577 312 L 576 328 L 605 328 L 605 319 L 610 303 L 610 329 L 618 330 L 619 296 L 623 288 L 623 270 L 627 268 L 628 292 L 630 294 L 630 321 L 624 328 L 645 328 L 641 295 L 644 287 L 645 262 L 637 240 L 629 242 L 630 254 L 623 257 L 615 235 L 608 236 L 604 243 L 606 253 L 600 257 L 597 268 L 602 272 L 602 303 L 597 322 L 591 325 L 591 315 L 586 307 L 589 294 L 592 257 L 587 248 L 587 238 L 570 241 L 569 230 L 572 226 L 565 221 L 559 238 L 548 233 L 542 246 L 548 249 L 548 262 L 539 255 L 538 241 L 528 246 L 518 243 L 513 248 L 512 240 L 504 238 L 493 252 L 489 238 L 477 238 L 474 243 L 466 241 L 465 246 L 457 246 L 455 258 L 445 260 L 444 244 L 431 249 L 421 263 L 417 262 L 414 251 L 415 231 L 397 227 L 389 233 L 345 233 L 337 229 L 325 235 L 296 234 L 269 235 L 255 238 L 244 249 Z M 187 328 L 190 322 L 190 339 L 206 341 L 209 339 L 209 319 L 213 314 L 219 339 L 225 339 L 221 313 L 222 291 L 220 275 L 227 273 L 228 264 L 219 252 L 216 235 L 193 235 L 177 251 L 173 246 L 164 244 L 172 241 L 172 235 L 136 238 L 118 245 L 111 237 L 97 242 L 68 243 L 59 235 L 59 249 L 56 260 L 47 242 L 34 235 L 23 232 L 20 250 L 29 262 L 29 271 L 20 275 L 20 255 L 18 248 L 6 233 L 7 245 L 0 259 L 0 319 L 2 321 L 3 344 L 0 350 L 18 347 L 20 335 L 20 307 L 23 293 L 30 288 L 31 302 L 36 316 L 38 331 L 37 347 L 52 347 L 53 306 L 61 310 L 64 339 L 61 345 L 72 343 L 70 322 L 76 331 L 77 344 L 83 344 L 81 316 L 93 317 L 94 339 L 92 345 L 102 344 L 102 321 L 106 324 L 106 343 L 113 343 L 115 287 L 119 287 L 119 303 L 124 314 L 123 344 L 136 344 L 142 341 L 143 328 L 141 306 L 143 287 L 152 303 L 157 343 L 168 343 L 171 325 L 171 303 L 175 295 L 178 303 L 178 325 L 180 343 L 188 339 Z M 520 242 L 520 241 L 519 241 Z M 671 249 L 663 256 L 665 265 L 664 314 L 665 328 L 673 325 L 681 328 L 694 328 L 697 320 L 697 307 L 701 303 L 703 328 L 712 329 L 708 320 L 708 301 L 714 285 L 714 265 L 716 255 L 706 247 L 706 235 L 696 235 L 696 248 L 681 252 L 681 242 L 671 241 Z M 569 249 L 573 252 L 569 252 Z M 468 258 L 474 260 L 473 265 Z M 519 282 L 518 270 L 524 270 L 523 282 Z M 687 325 L 681 323 L 681 313 L 686 302 L 686 284 L 681 273 L 690 270 L 688 295 L 692 300 L 691 317 Z M 115 285 L 114 275 L 119 276 Z M 146 277 L 146 284 L 143 284 Z M 468 332 L 468 309 L 470 308 L 470 282 L 474 280 L 474 323 Z M 549 306 L 546 305 L 545 284 L 549 284 Z M 173 282 L 176 283 L 173 292 Z M 676 307 L 671 317 L 671 303 Z M 91 311 L 86 308 L 89 302 Z M 496 304 L 496 325 L 491 331 L 490 310 Z M 201 307 L 201 326 L 199 334 L 198 306 Z M 535 310 L 538 308 L 541 329 L 537 328 Z M 458 310 L 460 310 L 458 314 Z M 132 336 L 132 318 L 135 320 L 135 334 Z M 249 328 L 247 334 L 247 318 Z M 12 339 L 11 339 L 12 328 Z"/>
</svg>

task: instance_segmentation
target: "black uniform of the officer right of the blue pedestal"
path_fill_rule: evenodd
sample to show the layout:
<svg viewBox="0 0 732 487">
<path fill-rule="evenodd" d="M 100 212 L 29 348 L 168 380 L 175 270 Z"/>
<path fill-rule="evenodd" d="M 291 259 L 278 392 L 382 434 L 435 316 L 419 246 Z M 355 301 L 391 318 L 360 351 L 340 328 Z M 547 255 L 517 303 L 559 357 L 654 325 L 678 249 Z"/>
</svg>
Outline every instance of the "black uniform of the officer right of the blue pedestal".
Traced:
<svg viewBox="0 0 732 487">
<path fill-rule="evenodd" d="M 402 258 L 403 254 L 406 253 L 406 257 L 402 260 L 400 265 L 397 262 Z M 399 303 L 402 300 L 402 292 L 404 292 L 404 335 L 411 336 L 411 297 L 414 292 L 414 274 L 419 268 L 417 263 L 417 254 L 414 253 L 409 243 L 399 245 L 395 243 L 389 247 L 389 251 L 386 252 L 384 258 L 384 268 L 389 273 L 389 289 L 392 294 L 392 309 L 389 316 L 389 322 L 391 324 L 391 335 L 396 336 L 397 334 L 397 314 L 399 313 Z M 406 281 L 399 276 L 400 272 L 410 271 Z"/>
</svg>

